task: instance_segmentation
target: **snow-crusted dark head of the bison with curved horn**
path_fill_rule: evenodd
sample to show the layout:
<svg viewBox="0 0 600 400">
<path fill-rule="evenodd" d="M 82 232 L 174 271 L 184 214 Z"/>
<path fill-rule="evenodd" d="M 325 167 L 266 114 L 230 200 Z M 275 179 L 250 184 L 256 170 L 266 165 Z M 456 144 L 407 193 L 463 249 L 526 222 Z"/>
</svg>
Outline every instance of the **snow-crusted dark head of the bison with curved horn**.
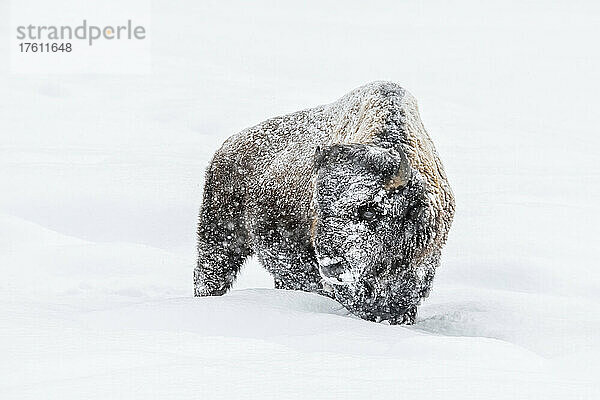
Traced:
<svg viewBox="0 0 600 400">
<path fill-rule="evenodd" d="M 412 323 L 439 250 L 430 250 L 425 180 L 406 155 L 374 145 L 319 148 L 312 230 L 319 272 L 352 313 Z"/>
</svg>

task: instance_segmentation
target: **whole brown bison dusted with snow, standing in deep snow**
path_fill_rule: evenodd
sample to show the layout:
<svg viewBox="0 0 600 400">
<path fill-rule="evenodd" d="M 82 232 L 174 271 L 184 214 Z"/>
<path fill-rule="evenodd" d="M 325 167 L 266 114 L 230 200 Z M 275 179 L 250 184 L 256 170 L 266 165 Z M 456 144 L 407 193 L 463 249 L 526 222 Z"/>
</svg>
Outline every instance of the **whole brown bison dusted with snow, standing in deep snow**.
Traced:
<svg viewBox="0 0 600 400">
<path fill-rule="evenodd" d="M 229 138 L 206 173 L 196 296 L 222 295 L 255 254 L 275 287 L 414 322 L 454 197 L 414 97 L 374 82 Z"/>
</svg>

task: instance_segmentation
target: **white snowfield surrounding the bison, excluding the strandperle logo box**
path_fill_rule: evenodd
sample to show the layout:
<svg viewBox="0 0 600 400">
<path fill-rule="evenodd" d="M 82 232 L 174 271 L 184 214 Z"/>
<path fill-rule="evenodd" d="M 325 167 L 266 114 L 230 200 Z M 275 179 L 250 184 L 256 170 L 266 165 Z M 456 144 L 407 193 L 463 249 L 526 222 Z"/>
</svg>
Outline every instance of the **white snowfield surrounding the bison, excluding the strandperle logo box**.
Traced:
<svg viewBox="0 0 600 400">
<path fill-rule="evenodd" d="M 0 398 L 600 396 L 600 3 L 161 0 L 151 74 L 47 76 L 9 73 L 7 3 Z M 419 100 L 456 196 L 417 324 L 256 261 L 193 298 L 222 141 L 380 79 Z"/>
</svg>

